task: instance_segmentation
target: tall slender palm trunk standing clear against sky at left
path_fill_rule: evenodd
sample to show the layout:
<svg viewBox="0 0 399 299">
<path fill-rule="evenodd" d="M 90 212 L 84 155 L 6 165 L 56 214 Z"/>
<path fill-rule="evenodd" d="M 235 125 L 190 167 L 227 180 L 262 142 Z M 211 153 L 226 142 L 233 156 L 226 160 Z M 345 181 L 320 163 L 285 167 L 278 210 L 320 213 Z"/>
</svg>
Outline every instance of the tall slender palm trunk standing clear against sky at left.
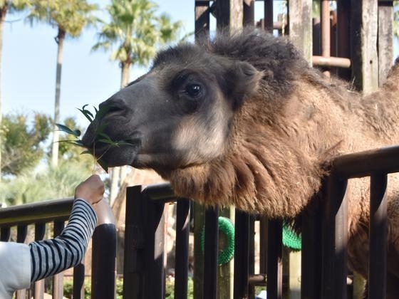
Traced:
<svg viewBox="0 0 399 299">
<path fill-rule="evenodd" d="M 66 32 L 58 28 L 58 35 L 56 36 L 56 43 L 58 44 L 57 52 L 57 67 L 56 67 L 56 101 L 54 105 L 54 131 L 53 131 L 53 144 L 51 147 L 51 165 L 56 167 L 58 165 L 58 141 L 59 131 L 56 123 L 60 122 L 60 97 L 61 97 L 61 69 L 62 69 L 62 52 L 63 41 L 65 40 Z"/>
</svg>

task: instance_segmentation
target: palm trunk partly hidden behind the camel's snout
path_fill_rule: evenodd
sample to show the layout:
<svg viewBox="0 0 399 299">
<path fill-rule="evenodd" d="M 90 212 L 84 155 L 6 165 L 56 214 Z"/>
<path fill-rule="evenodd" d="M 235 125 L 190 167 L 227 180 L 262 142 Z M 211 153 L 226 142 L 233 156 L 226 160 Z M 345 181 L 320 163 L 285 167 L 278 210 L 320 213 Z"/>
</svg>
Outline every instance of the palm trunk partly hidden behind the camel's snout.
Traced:
<svg viewBox="0 0 399 299">
<path fill-rule="evenodd" d="M 129 70 L 130 70 L 130 61 L 123 61 L 120 63 L 120 69 L 121 69 L 121 74 L 120 74 L 120 89 L 124 88 L 126 85 L 128 85 L 129 80 L 130 80 L 130 75 L 129 75 Z M 110 205 L 113 204 L 113 201 L 115 200 L 116 196 L 118 196 L 120 185 L 122 182 L 125 180 L 125 177 L 127 175 L 127 167 L 122 166 L 122 167 L 113 167 L 111 169 L 110 173 L 110 180 L 111 180 L 111 187 L 110 187 Z"/>
</svg>

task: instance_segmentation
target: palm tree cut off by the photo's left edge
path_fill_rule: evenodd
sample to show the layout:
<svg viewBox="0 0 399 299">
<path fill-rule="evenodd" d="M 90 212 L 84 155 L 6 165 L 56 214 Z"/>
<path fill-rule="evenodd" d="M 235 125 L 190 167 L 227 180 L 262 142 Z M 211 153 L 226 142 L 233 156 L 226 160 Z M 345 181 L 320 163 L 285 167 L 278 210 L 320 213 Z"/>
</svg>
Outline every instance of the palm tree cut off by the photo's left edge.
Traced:
<svg viewBox="0 0 399 299">
<path fill-rule="evenodd" d="M 6 15 L 14 11 L 22 11 L 30 3 L 29 0 L 0 0 L 0 181 L 1 181 L 1 57 L 3 56 L 3 32 Z"/>
</svg>

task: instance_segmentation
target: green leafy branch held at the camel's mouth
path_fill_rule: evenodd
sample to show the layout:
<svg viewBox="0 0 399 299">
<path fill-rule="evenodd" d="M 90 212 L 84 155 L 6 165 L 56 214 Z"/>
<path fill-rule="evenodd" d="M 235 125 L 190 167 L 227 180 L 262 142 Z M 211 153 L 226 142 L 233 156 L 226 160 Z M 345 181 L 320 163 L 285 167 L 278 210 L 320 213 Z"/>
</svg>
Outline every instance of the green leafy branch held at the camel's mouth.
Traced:
<svg viewBox="0 0 399 299">
<path fill-rule="evenodd" d="M 96 117 L 98 117 L 98 118 L 103 117 L 105 115 L 105 113 L 108 112 L 108 110 L 109 110 L 109 107 L 106 107 L 106 106 L 101 107 L 99 110 L 96 107 L 94 107 L 95 114 L 93 114 L 93 112 L 86 109 L 87 106 L 88 106 L 87 104 L 83 105 L 83 107 L 81 109 L 78 108 L 78 110 L 88 119 L 90 124 L 95 120 Z M 82 140 L 80 139 L 81 134 L 82 134 L 81 130 L 73 130 L 70 127 L 68 127 L 67 125 L 62 125 L 62 124 L 56 124 L 56 126 L 58 127 L 59 131 L 75 137 L 75 140 L 60 140 L 59 142 L 67 142 L 71 145 L 76 145 L 78 147 L 85 147 L 83 145 Z M 109 145 L 108 150 L 111 147 L 120 147 L 120 145 L 132 145 L 131 143 L 125 142 L 123 140 L 119 140 L 119 141 L 112 140 L 107 134 L 104 133 L 106 126 L 107 126 L 107 124 L 103 123 L 96 128 L 95 136 L 94 136 L 94 140 L 96 142 L 102 142 L 102 143 Z M 105 152 L 107 152 L 107 151 L 105 151 Z M 103 154 L 105 154 L 105 152 Z M 92 154 L 92 153 L 88 150 L 85 150 L 85 151 L 81 152 L 81 154 Z M 101 155 L 98 158 L 95 158 L 95 143 L 94 143 L 93 157 L 95 159 L 95 162 L 97 162 L 100 165 L 100 167 L 102 167 L 105 170 L 105 172 L 108 172 L 108 165 L 104 161 L 101 160 L 102 156 L 103 155 Z"/>
</svg>

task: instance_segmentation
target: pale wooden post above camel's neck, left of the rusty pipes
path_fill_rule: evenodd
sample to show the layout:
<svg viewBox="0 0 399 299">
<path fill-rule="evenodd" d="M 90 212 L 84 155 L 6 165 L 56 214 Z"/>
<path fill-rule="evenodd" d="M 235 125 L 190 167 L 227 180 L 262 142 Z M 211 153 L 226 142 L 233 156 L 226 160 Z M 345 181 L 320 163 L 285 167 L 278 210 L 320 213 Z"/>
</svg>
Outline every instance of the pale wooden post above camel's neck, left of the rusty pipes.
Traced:
<svg viewBox="0 0 399 299">
<path fill-rule="evenodd" d="M 304 53 L 306 61 L 312 58 L 312 0 L 289 1 L 289 39 Z"/>
</svg>

